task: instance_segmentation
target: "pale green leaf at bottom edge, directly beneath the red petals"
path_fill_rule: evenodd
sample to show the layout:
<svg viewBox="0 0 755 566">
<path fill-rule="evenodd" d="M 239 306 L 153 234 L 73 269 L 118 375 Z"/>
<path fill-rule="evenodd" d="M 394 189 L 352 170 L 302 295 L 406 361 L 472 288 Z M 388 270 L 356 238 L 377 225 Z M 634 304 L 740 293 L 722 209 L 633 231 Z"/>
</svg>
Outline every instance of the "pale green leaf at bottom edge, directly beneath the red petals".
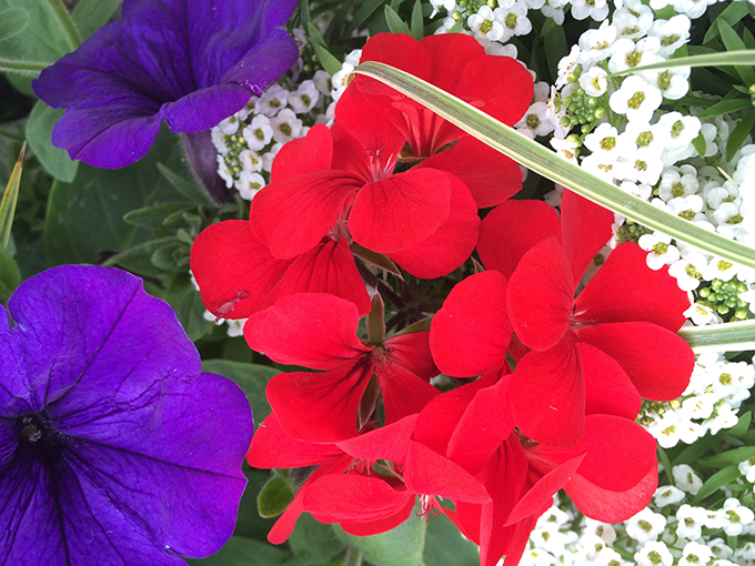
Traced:
<svg viewBox="0 0 755 566">
<path fill-rule="evenodd" d="M 372 536 L 354 536 L 334 526 L 336 535 L 346 545 L 359 549 L 375 566 L 417 566 L 422 562 L 426 523 L 412 513 L 392 530 Z"/>
</svg>

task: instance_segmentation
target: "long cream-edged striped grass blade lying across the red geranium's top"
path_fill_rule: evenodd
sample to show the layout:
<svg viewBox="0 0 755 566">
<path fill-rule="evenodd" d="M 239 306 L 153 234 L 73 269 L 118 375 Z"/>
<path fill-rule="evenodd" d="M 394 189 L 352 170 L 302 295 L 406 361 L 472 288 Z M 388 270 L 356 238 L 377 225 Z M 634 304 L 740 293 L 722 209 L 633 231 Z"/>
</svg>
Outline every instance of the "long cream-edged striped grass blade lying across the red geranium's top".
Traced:
<svg viewBox="0 0 755 566">
<path fill-rule="evenodd" d="M 360 64 L 356 72 L 393 87 L 491 148 L 606 209 L 714 255 L 755 267 L 755 250 L 708 232 L 623 192 L 437 87 L 376 61 Z"/>
</svg>

